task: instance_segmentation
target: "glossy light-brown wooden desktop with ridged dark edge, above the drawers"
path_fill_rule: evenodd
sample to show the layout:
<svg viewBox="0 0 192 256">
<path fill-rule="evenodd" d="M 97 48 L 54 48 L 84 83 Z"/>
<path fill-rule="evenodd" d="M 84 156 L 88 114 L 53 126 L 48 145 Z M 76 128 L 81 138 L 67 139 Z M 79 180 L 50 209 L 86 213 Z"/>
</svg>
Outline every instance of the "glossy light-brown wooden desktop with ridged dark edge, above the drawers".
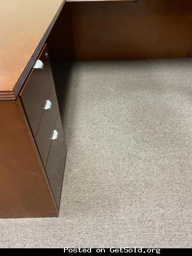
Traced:
<svg viewBox="0 0 192 256">
<path fill-rule="evenodd" d="M 13 100 L 65 0 L 0 0 L 0 100 Z M 24 79 L 26 79 L 24 76 Z M 20 79 L 20 81 L 19 81 Z"/>
</svg>

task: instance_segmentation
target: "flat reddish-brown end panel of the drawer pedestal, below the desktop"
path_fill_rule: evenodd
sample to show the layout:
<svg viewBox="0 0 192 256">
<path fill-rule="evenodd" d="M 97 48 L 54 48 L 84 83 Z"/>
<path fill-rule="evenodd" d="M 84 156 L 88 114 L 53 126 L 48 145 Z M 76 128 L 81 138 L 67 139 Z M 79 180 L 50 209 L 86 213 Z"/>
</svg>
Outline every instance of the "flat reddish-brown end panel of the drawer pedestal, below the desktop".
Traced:
<svg viewBox="0 0 192 256">
<path fill-rule="evenodd" d="M 0 102 L 0 218 L 57 217 L 45 170 L 19 98 Z"/>
</svg>

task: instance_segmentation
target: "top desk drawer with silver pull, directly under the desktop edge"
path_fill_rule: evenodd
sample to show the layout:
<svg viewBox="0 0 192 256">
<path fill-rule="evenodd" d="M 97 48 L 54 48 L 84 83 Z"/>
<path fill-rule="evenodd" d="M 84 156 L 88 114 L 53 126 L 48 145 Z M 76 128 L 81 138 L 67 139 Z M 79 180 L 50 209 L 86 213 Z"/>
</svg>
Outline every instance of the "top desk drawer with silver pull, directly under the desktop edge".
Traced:
<svg viewBox="0 0 192 256">
<path fill-rule="evenodd" d="M 20 98 L 24 105 L 34 137 L 44 111 L 45 102 L 48 98 L 52 82 L 52 70 L 47 46 L 45 46 L 25 84 L 24 89 L 20 93 Z"/>
</svg>

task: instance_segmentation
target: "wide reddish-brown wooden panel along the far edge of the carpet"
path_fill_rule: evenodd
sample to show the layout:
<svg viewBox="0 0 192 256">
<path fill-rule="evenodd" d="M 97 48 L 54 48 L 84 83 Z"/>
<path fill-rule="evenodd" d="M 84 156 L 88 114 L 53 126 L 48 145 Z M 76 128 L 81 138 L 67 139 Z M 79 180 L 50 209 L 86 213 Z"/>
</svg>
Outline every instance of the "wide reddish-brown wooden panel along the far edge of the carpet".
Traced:
<svg viewBox="0 0 192 256">
<path fill-rule="evenodd" d="M 70 3 L 77 60 L 186 57 L 190 0 Z"/>
</svg>

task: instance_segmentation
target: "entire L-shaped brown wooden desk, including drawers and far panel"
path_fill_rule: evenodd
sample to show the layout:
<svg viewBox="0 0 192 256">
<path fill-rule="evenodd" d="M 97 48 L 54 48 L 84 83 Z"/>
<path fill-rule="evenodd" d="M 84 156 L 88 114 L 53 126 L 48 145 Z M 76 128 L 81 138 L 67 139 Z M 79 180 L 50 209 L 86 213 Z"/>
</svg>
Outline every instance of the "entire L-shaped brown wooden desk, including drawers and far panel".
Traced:
<svg viewBox="0 0 192 256">
<path fill-rule="evenodd" d="M 66 151 L 50 61 L 191 56 L 191 13 L 190 0 L 1 0 L 0 218 L 58 216 Z"/>
</svg>

